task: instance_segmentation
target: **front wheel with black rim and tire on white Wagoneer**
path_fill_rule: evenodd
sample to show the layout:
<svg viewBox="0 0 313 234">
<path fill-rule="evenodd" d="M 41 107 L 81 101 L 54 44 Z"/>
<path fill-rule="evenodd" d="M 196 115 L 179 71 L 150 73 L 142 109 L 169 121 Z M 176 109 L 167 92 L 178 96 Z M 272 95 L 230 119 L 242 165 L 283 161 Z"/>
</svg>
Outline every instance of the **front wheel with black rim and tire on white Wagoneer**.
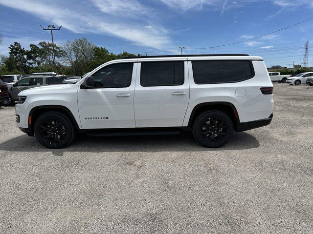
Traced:
<svg viewBox="0 0 313 234">
<path fill-rule="evenodd" d="M 38 117 L 34 133 L 39 143 L 50 149 L 66 147 L 75 138 L 72 121 L 60 112 L 47 112 Z"/>
</svg>

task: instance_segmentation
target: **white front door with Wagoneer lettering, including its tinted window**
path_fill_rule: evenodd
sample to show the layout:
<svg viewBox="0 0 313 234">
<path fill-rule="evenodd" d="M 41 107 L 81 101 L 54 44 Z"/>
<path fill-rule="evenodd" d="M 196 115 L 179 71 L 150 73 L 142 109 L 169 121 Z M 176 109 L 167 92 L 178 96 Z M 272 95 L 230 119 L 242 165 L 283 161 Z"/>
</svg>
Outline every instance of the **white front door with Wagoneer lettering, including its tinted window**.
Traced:
<svg viewBox="0 0 313 234">
<path fill-rule="evenodd" d="M 83 129 L 134 128 L 134 87 L 137 63 L 112 63 L 90 74 L 95 87 L 79 89 Z"/>
</svg>

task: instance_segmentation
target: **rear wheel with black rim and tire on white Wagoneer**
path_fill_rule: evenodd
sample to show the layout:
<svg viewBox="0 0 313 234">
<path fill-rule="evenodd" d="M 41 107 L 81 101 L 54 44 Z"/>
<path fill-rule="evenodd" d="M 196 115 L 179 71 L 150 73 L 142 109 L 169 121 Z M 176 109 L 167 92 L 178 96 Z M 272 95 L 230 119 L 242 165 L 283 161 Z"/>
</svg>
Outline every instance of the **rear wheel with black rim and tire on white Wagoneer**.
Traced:
<svg viewBox="0 0 313 234">
<path fill-rule="evenodd" d="M 197 117 L 193 125 L 193 133 L 197 142 L 209 148 L 225 145 L 230 140 L 233 131 L 234 126 L 231 119 L 221 111 L 204 112 Z"/>
</svg>

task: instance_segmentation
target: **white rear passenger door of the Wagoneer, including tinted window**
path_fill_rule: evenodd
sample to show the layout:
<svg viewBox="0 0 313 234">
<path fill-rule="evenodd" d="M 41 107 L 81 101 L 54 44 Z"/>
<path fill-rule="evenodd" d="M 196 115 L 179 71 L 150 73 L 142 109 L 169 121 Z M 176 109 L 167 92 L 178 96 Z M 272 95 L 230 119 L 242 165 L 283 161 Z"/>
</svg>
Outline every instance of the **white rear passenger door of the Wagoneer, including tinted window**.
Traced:
<svg viewBox="0 0 313 234">
<path fill-rule="evenodd" d="M 138 63 L 134 96 L 137 128 L 181 127 L 188 102 L 186 61 Z"/>
</svg>

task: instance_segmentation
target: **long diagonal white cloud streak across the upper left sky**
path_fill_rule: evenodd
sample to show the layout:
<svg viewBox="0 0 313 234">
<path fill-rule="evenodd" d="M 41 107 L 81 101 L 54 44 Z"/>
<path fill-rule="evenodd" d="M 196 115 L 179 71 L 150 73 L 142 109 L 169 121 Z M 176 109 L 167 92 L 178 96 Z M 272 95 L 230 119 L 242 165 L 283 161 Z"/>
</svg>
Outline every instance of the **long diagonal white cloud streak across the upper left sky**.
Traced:
<svg viewBox="0 0 313 234">
<path fill-rule="evenodd" d="M 121 2 L 124 1 L 119 0 L 119 3 Z M 121 20 L 119 15 L 125 12 L 126 8 L 118 9 L 118 4 L 114 5 L 112 3 L 110 5 L 111 14 L 114 14 L 115 18 L 104 15 L 103 12 L 108 10 L 103 8 L 97 9 L 97 11 L 94 8 L 89 9 L 85 6 L 86 2 L 77 2 L 76 5 L 69 4 L 68 7 L 65 5 L 65 1 L 62 0 L 56 0 L 54 4 L 51 4 L 48 0 L 0 0 L 0 4 L 34 14 L 45 21 L 63 25 L 64 28 L 74 33 L 109 34 L 132 41 L 136 45 L 163 50 L 173 48 L 172 41 L 166 30 L 159 25 L 154 25 L 151 29 L 145 28 L 146 20 L 144 22 Z M 62 5 L 62 7 L 58 7 L 58 5 Z M 53 11 L 50 9 L 53 9 Z"/>
</svg>

